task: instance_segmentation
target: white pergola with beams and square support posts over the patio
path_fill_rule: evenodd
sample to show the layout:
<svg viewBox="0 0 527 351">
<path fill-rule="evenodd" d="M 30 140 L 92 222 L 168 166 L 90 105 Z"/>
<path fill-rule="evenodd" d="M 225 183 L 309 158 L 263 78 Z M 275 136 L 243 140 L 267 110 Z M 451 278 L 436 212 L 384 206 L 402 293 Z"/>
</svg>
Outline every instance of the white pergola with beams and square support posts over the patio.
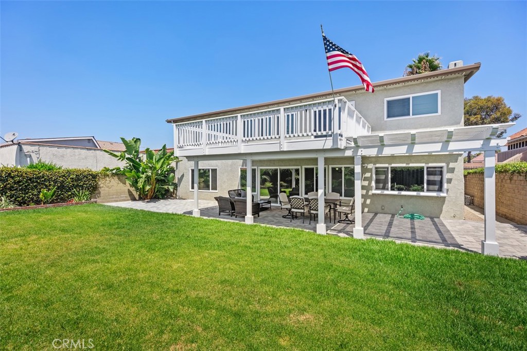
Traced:
<svg viewBox="0 0 527 351">
<path fill-rule="evenodd" d="M 355 165 L 355 213 L 362 214 L 362 157 L 363 156 L 396 156 L 396 155 L 433 155 L 459 154 L 467 151 L 484 153 L 484 214 L 485 233 L 481 243 L 482 253 L 498 255 L 499 245 L 496 242 L 495 226 L 495 152 L 506 144 L 505 138 L 495 138 L 500 132 L 513 126 L 514 123 L 496 125 L 482 125 L 453 128 L 430 128 L 396 133 L 366 134 L 348 138 L 341 138 L 340 147 L 313 148 L 301 150 L 281 150 L 222 154 L 187 155 L 189 161 L 194 162 L 194 169 L 199 169 L 200 161 L 241 159 L 246 161 L 247 169 L 251 169 L 252 161 L 269 159 L 299 159 L 317 158 L 318 167 L 318 223 L 317 233 L 326 233 L 324 219 L 324 166 L 325 157 L 349 157 L 354 159 Z M 321 142 L 321 141 L 318 141 Z M 344 145 L 343 145 L 344 144 Z M 247 193 L 252 193 L 252 174 L 247 172 Z M 198 198 L 198 172 L 194 172 L 194 216 L 200 216 Z M 252 224 L 251 202 L 247 201 L 247 216 L 245 223 Z M 355 215 L 353 237 L 364 238 L 362 216 Z"/>
</svg>

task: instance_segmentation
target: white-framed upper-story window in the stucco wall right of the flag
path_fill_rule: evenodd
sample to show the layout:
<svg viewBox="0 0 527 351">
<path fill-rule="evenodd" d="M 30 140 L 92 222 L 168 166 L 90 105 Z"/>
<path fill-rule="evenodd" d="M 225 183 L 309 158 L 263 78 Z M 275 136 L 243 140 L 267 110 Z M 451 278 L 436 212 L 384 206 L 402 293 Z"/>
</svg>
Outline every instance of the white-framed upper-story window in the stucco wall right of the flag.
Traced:
<svg viewBox="0 0 527 351">
<path fill-rule="evenodd" d="M 395 96 L 384 99 L 384 118 L 441 114 L 441 91 Z"/>
</svg>

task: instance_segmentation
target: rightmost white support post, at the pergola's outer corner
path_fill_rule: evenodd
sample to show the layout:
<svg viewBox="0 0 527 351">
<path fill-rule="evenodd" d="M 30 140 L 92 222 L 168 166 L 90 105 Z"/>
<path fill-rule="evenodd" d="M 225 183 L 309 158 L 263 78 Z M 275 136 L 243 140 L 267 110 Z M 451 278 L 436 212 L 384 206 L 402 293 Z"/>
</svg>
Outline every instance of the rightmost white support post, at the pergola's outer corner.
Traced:
<svg viewBox="0 0 527 351">
<path fill-rule="evenodd" d="M 500 247 L 496 242 L 496 161 L 493 150 L 485 151 L 485 240 L 481 242 L 481 253 L 497 256 Z"/>
</svg>

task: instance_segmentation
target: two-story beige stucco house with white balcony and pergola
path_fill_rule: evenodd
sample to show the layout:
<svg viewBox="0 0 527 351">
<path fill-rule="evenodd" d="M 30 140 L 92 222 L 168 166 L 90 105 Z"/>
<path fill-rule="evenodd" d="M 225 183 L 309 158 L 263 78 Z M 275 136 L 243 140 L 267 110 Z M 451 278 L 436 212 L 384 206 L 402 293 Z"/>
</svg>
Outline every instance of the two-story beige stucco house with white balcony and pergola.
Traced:
<svg viewBox="0 0 527 351">
<path fill-rule="evenodd" d="M 292 188 L 355 198 L 355 212 L 405 213 L 462 219 L 463 152 L 483 152 L 484 253 L 497 254 L 494 153 L 514 125 L 463 126 L 464 84 L 472 64 L 376 82 L 375 93 L 353 86 L 167 119 L 173 125 L 179 196 L 227 195 L 247 186 L 255 198 Z M 194 172 L 198 169 L 198 172 Z M 247 172 L 250 169 L 250 172 Z M 492 179 L 492 182 L 491 182 Z M 272 198 L 276 202 L 275 198 Z M 250 202 L 249 202 L 250 204 Z M 252 223 L 248 204 L 245 220 Z M 354 237 L 362 238 L 361 216 Z M 326 233 L 319 216 L 317 233 Z"/>
</svg>

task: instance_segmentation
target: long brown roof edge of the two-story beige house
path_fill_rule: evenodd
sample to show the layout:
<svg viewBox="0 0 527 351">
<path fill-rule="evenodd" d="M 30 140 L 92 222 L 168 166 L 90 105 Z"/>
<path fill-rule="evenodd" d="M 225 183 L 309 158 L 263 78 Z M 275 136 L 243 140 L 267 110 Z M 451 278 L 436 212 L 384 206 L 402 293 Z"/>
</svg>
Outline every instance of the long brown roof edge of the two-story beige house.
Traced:
<svg viewBox="0 0 527 351">
<path fill-rule="evenodd" d="M 472 65 L 459 66 L 455 68 L 440 69 L 440 71 L 435 71 L 435 72 L 422 73 L 422 74 L 417 74 L 413 76 L 388 79 L 387 81 L 374 82 L 373 86 L 377 89 L 383 86 L 387 87 L 391 85 L 399 85 L 399 84 L 405 84 L 405 83 L 410 83 L 410 82 L 425 81 L 427 79 L 434 79 L 434 78 L 441 79 L 448 75 L 457 75 L 457 74 L 463 75 L 464 81 L 466 82 L 477 71 L 479 71 L 480 67 L 481 67 L 481 63 L 475 63 Z M 364 92 L 364 86 L 356 85 L 356 86 L 352 86 L 348 88 L 336 89 L 335 94 L 344 94 L 344 93 L 361 92 L 361 91 Z M 201 113 L 198 115 L 191 115 L 191 116 L 178 117 L 178 118 L 169 118 L 167 119 L 167 123 L 182 123 L 186 121 L 196 121 L 199 119 L 211 118 L 213 115 L 225 115 L 225 114 L 231 114 L 231 113 L 234 114 L 235 112 L 238 112 L 241 110 L 261 108 L 261 107 L 265 107 L 269 105 L 280 105 L 280 104 L 292 103 L 292 102 L 308 100 L 308 99 L 318 99 L 324 96 L 330 96 L 331 94 L 332 94 L 331 91 L 326 91 L 326 92 L 321 92 L 321 93 L 302 95 L 302 96 L 296 96 L 296 97 L 291 97 L 287 99 L 270 101 L 267 103 L 228 108 L 228 109 L 223 109 L 220 111 L 213 111 L 213 112 L 208 112 L 208 113 Z"/>
</svg>

